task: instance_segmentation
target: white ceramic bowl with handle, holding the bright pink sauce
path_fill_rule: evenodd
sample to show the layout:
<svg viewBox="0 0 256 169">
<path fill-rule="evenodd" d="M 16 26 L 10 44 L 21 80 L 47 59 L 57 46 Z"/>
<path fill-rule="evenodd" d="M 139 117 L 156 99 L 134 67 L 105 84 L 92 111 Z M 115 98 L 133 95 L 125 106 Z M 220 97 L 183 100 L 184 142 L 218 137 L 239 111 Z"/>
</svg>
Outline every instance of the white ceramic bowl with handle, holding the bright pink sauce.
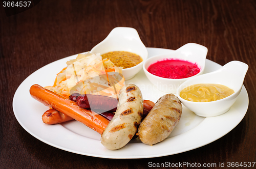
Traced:
<svg viewBox="0 0 256 169">
<path fill-rule="evenodd" d="M 196 43 L 187 43 L 170 54 L 156 55 L 148 58 L 143 65 L 143 70 L 148 80 L 150 80 L 158 90 L 166 93 L 176 93 L 177 89 L 184 81 L 203 73 L 207 51 L 208 49 L 205 46 Z M 156 76 L 147 71 L 150 65 L 158 61 L 163 61 L 164 59 L 179 59 L 193 64 L 196 63 L 200 68 L 200 72 L 187 78 L 170 79 Z"/>
</svg>

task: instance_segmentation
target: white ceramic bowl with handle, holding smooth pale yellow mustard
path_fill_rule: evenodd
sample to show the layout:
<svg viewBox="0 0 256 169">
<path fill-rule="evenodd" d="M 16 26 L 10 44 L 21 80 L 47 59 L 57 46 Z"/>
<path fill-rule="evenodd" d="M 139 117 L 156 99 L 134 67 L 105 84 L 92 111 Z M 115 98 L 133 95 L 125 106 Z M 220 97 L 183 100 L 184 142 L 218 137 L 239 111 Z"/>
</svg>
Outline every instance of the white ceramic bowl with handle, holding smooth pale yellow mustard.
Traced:
<svg viewBox="0 0 256 169">
<path fill-rule="evenodd" d="M 229 62 L 217 71 L 206 73 L 185 81 L 178 88 L 177 96 L 187 108 L 194 111 L 198 116 L 213 117 L 222 115 L 228 111 L 232 104 L 237 100 L 237 97 L 242 89 L 247 70 L 248 65 L 243 62 Z M 215 83 L 224 85 L 232 89 L 234 93 L 226 98 L 211 102 L 193 102 L 180 97 L 180 92 L 184 88 L 200 83 Z"/>
</svg>

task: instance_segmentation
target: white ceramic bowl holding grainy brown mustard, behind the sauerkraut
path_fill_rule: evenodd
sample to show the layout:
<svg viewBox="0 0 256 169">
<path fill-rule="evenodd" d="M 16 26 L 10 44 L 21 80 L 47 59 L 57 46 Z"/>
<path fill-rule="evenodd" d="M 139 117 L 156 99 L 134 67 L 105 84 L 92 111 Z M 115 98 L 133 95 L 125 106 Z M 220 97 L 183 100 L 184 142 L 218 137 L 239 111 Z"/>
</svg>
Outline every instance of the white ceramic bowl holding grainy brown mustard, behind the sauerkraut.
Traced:
<svg viewBox="0 0 256 169">
<path fill-rule="evenodd" d="M 143 61 L 132 67 L 122 70 L 125 80 L 134 77 L 143 66 L 148 53 L 145 45 L 140 40 L 138 32 L 132 27 L 115 27 L 110 34 L 99 44 L 94 46 L 91 53 L 108 53 L 110 51 L 128 51 L 138 54 Z"/>
</svg>

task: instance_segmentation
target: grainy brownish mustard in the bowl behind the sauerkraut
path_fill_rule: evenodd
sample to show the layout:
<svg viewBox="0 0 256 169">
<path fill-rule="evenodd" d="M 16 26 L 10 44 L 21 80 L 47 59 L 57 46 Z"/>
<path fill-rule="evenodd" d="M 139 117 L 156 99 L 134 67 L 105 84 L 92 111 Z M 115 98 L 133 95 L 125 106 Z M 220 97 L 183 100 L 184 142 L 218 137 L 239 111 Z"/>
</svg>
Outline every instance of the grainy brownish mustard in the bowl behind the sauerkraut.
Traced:
<svg viewBox="0 0 256 169">
<path fill-rule="evenodd" d="M 115 66 L 123 67 L 123 69 L 134 67 L 143 61 L 138 54 L 127 51 L 111 51 L 102 54 L 101 57 L 110 59 Z"/>
</svg>

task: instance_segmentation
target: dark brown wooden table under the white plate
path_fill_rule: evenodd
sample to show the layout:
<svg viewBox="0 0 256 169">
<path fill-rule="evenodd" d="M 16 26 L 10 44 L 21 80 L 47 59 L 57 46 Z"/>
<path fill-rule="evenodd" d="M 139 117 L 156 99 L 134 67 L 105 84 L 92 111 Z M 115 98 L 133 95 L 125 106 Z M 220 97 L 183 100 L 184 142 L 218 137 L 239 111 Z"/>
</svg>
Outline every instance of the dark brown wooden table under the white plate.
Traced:
<svg viewBox="0 0 256 169">
<path fill-rule="evenodd" d="M 256 161 L 256 1 L 42 0 L 8 17 L 2 5 L 0 9 L 0 168 L 147 168 L 149 162 L 227 167 L 228 162 Z M 206 46 L 207 59 L 220 65 L 233 60 L 248 64 L 244 86 L 249 107 L 244 119 L 213 143 L 147 159 L 74 154 L 30 135 L 12 108 L 20 83 L 42 66 L 92 49 L 117 26 L 134 27 L 146 47 L 177 49 L 194 42 Z"/>
</svg>

